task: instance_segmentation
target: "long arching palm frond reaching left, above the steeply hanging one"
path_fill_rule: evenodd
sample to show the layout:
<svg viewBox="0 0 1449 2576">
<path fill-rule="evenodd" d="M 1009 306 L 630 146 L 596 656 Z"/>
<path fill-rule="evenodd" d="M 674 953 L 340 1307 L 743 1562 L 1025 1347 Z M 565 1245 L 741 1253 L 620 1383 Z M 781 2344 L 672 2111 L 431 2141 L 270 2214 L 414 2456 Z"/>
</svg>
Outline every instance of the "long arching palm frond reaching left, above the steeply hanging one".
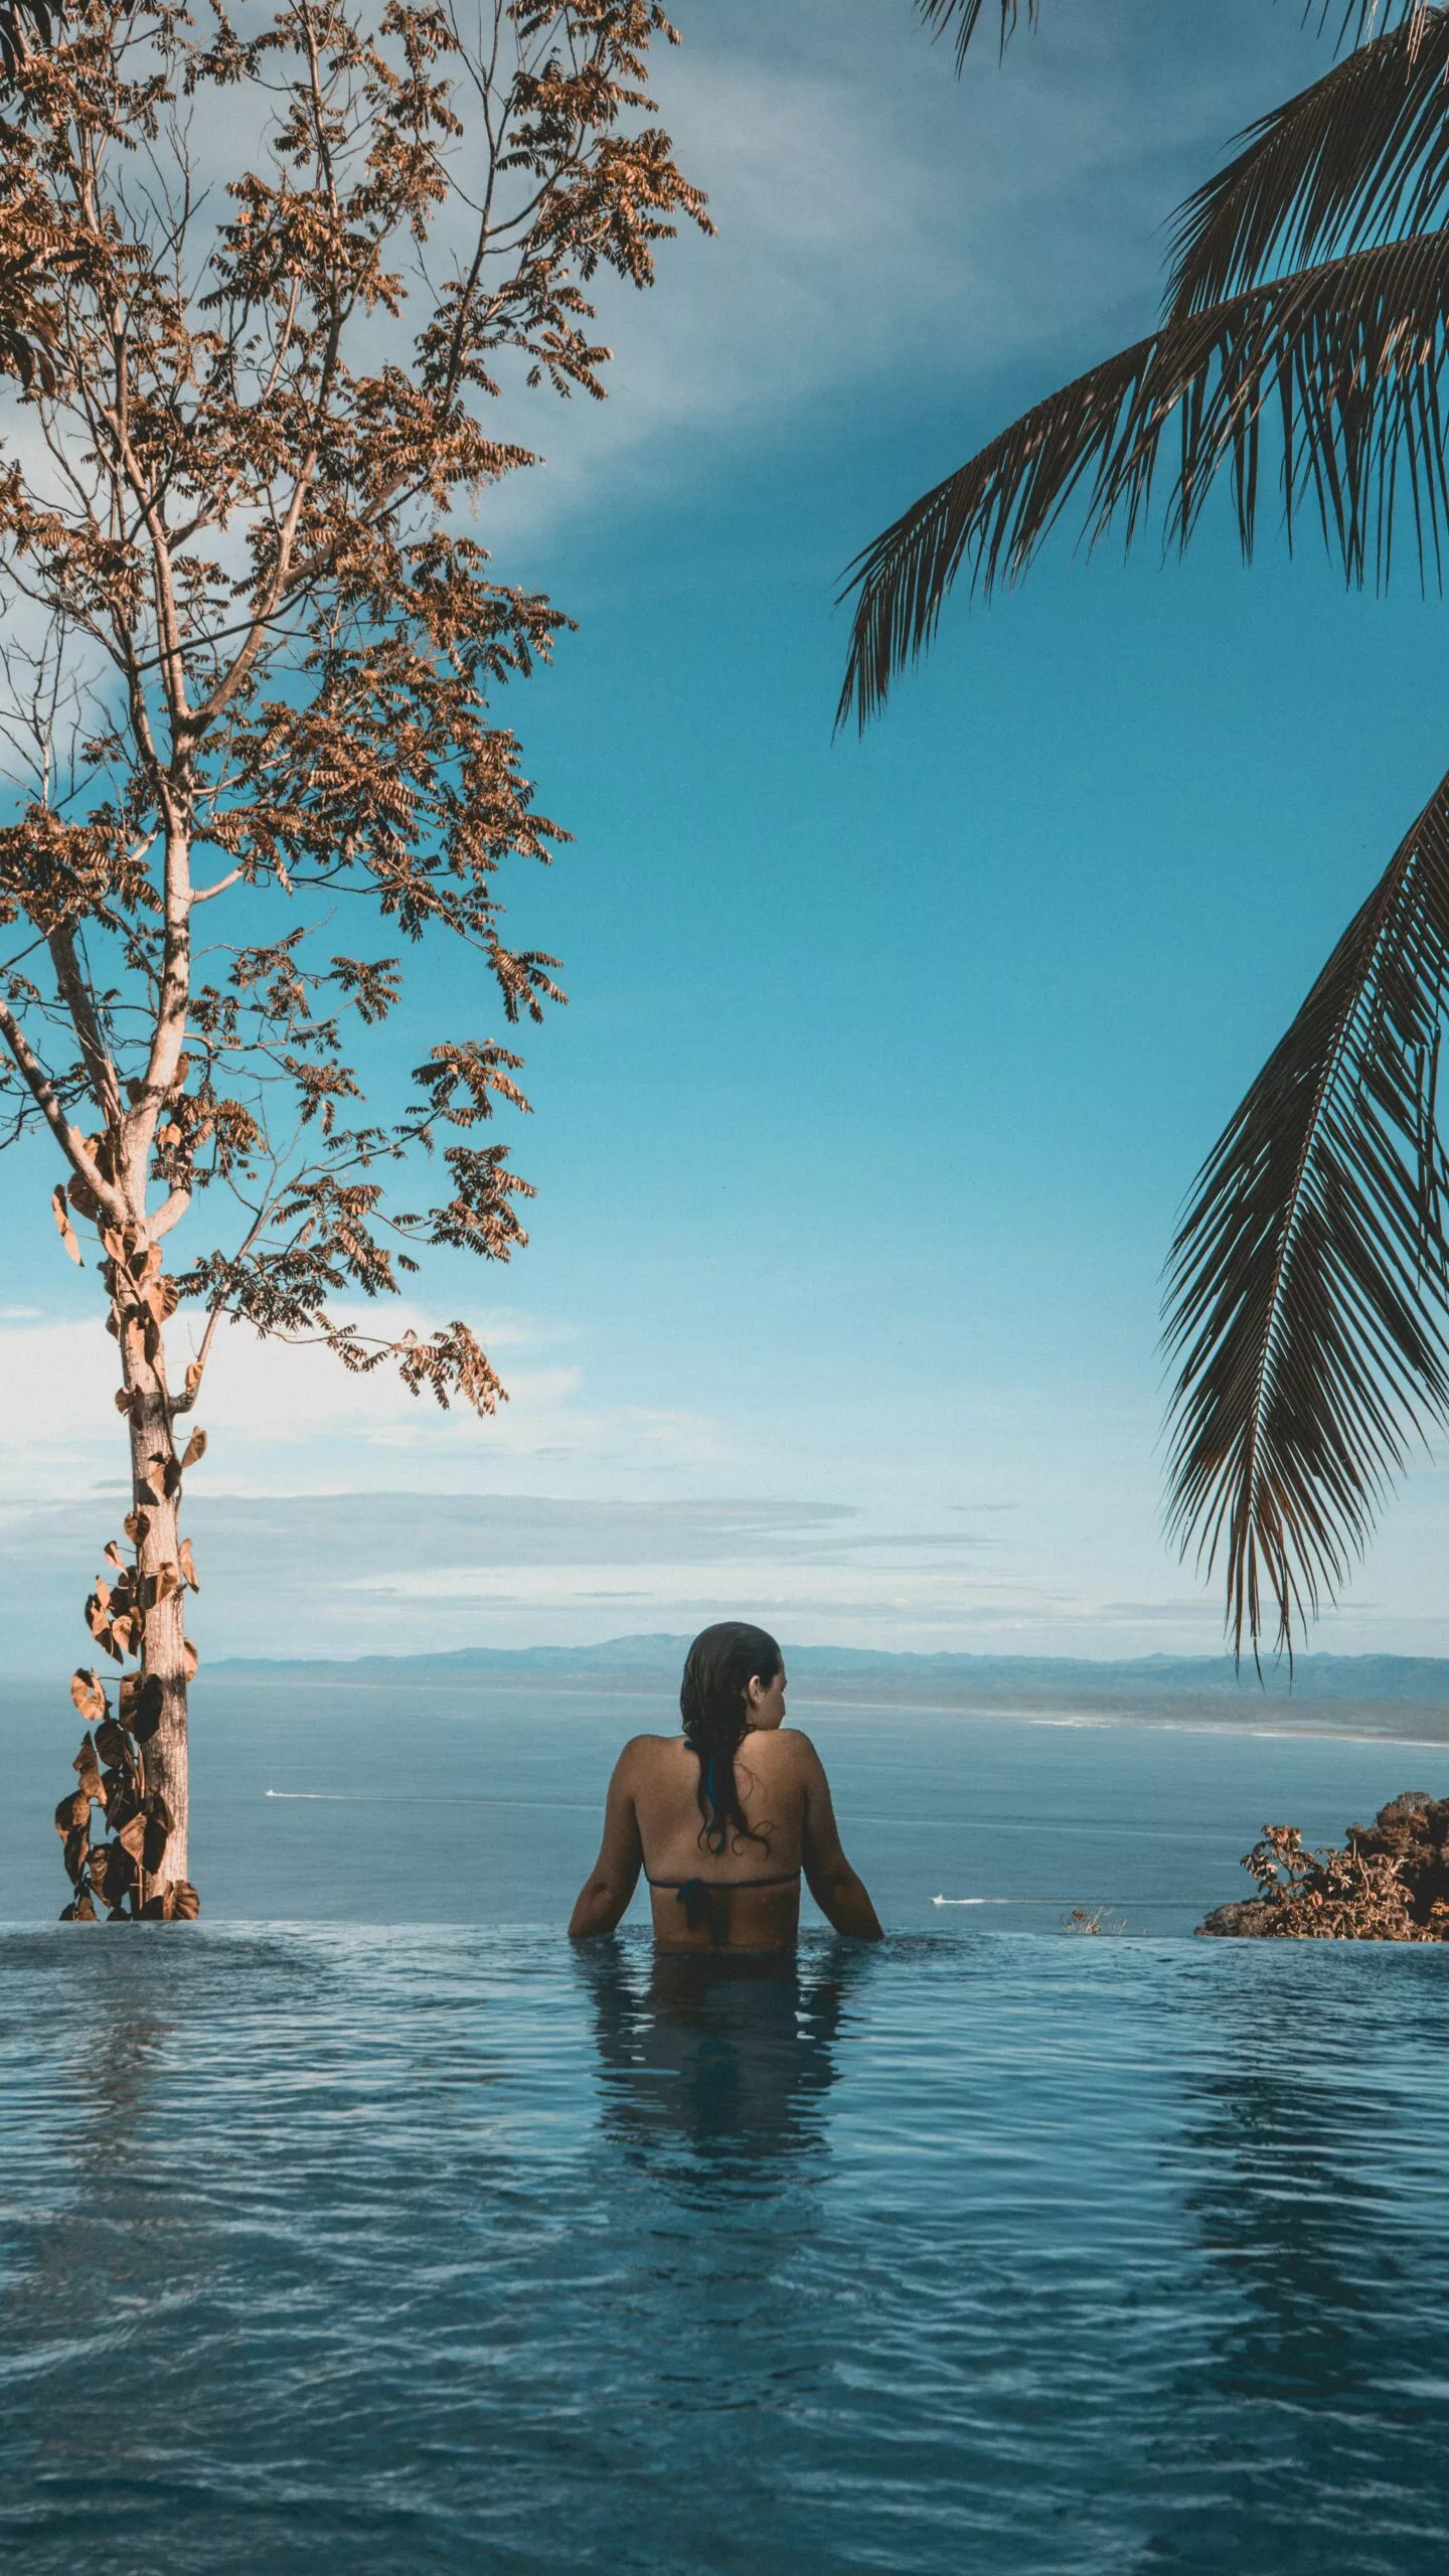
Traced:
<svg viewBox="0 0 1449 2576">
<path fill-rule="evenodd" d="M 864 726 L 892 677 L 933 639 L 962 567 L 972 590 L 1018 580 L 1073 492 L 1085 536 L 1114 518 L 1142 531 L 1176 425 L 1171 544 L 1186 546 L 1227 474 L 1243 551 L 1253 551 L 1263 446 L 1292 544 L 1305 507 L 1346 577 L 1387 582 L 1395 518 L 1413 510 L 1421 577 L 1441 569 L 1449 459 L 1439 404 L 1449 358 L 1449 229 L 1382 242 L 1269 278 L 1199 314 L 1176 314 L 1104 366 L 1034 404 L 969 464 L 913 502 L 848 567 L 859 592 L 835 721 Z"/>
</svg>

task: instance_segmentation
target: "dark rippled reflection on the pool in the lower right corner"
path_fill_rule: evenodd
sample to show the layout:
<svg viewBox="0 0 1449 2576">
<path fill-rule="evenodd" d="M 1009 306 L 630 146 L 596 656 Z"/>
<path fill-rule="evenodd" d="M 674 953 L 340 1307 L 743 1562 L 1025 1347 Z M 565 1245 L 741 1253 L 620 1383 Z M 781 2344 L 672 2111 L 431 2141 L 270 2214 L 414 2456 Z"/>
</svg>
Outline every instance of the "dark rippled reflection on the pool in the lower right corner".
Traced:
<svg viewBox="0 0 1449 2576">
<path fill-rule="evenodd" d="M 1199 2318 L 1173 2427 L 1183 2496 L 1142 2568 L 1220 2576 L 1279 2535 L 1284 2576 L 1444 2566 L 1444 2177 L 1423 2045 L 1441 1999 L 1397 1960 L 1323 1955 L 1212 1996 L 1212 2056 L 1181 2079 Z M 1413 1971 L 1410 1971 L 1413 1973 Z"/>
</svg>

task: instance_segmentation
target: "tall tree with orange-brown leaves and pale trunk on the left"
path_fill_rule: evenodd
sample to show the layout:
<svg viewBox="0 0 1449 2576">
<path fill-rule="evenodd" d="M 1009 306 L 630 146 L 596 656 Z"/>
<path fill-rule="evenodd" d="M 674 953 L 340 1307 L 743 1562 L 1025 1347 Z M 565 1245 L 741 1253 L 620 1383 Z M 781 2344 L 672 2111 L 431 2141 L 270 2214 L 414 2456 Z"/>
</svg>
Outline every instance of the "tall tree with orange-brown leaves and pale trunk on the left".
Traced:
<svg viewBox="0 0 1449 2576">
<path fill-rule="evenodd" d="M 0 18 L 0 1144 L 49 1131 L 62 1244 L 98 1255 L 134 1512 L 90 1625 L 160 1690 L 150 1736 L 106 1718 L 131 1749 L 95 1772 L 113 1839 L 72 1911 L 188 1886 L 204 1435 L 175 1425 L 222 1319 L 503 1396 L 464 1321 L 361 1332 L 338 1298 L 526 1242 L 490 1139 L 521 1056 L 477 1018 L 562 1002 L 500 871 L 565 835 L 492 701 L 567 621 L 472 520 L 534 464 L 498 394 L 601 399 L 590 281 L 642 289 L 681 219 L 709 229 L 650 121 L 657 36 L 655 0 Z M 371 1033 L 425 940 L 469 953 L 474 1002 L 402 1082 Z"/>
</svg>

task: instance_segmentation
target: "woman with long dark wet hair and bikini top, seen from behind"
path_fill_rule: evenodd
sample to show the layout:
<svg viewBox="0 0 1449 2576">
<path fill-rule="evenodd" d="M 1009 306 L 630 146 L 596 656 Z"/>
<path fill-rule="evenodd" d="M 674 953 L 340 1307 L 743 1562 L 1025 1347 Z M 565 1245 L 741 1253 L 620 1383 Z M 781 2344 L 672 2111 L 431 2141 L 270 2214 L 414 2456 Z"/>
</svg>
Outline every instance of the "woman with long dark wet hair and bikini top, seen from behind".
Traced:
<svg viewBox="0 0 1449 2576">
<path fill-rule="evenodd" d="M 841 1850 L 810 1736 L 784 1728 L 784 1656 L 763 1628 L 719 1620 L 688 1649 L 683 1736 L 634 1736 L 614 1765 L 598 1860 L 570 1940 L 614 1932 L 647 1873 L 663 1950 L 789 1950 L 799 1873 L 835 1932 L 882 1927 Z"/>
</svg>

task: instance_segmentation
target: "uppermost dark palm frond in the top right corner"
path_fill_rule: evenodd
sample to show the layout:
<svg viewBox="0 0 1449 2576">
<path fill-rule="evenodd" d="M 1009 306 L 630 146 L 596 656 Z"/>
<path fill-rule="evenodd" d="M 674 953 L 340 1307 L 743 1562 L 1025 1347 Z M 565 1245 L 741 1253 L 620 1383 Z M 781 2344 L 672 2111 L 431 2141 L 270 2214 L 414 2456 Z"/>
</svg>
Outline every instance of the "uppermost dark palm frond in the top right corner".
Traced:
<svg viewBox="0 0 1449 2576">
<path fill-rule="evenodd" d="M 1449 198 L 1449 8 L 1428 8 L 1258 118 L 1178 209 L 1165 312 L 1201 312 L 1269 268 L 1428 232 Z"/>
</svg>

